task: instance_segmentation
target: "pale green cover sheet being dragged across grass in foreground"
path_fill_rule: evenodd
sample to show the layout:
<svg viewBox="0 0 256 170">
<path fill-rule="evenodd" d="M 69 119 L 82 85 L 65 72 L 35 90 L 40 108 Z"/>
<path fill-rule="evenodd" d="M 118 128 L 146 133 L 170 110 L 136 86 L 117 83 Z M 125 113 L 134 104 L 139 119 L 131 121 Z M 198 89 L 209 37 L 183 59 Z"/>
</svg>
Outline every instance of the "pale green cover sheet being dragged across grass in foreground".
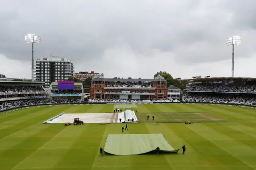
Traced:
<svg viewBox="0 0 256 170">
<path fill-rule="evenodd" d="M 177 153 L 163 134 L 109 134 L 104 152 L 113 155 L 139 155 L 160 148 L 162 152 Z"/>
</svg>

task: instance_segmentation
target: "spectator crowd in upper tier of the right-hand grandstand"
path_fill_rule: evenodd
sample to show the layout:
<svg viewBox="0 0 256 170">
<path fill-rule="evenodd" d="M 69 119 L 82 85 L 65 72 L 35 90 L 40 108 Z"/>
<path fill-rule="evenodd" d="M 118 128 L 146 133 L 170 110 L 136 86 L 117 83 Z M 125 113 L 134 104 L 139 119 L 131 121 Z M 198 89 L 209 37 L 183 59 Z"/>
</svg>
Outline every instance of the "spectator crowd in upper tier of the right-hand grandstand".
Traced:
<svg viewBox="0 0 256 170">
<path fill-rule="evenodd" d="M 186 86 L 186 90 L 215 90 L 215 91 L 250 91 L 256 93 L 256 85 L 221 85 L 193 83 Z"/>
</svg>

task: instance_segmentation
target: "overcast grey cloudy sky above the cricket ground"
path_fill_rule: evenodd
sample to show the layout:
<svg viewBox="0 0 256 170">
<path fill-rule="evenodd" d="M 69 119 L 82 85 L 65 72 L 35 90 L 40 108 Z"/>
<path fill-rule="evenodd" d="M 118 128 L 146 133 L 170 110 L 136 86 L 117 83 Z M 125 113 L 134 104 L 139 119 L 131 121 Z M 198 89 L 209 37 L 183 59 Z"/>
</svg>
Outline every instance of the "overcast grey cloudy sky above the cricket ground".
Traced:
<svg viewBox="0 0 256 170">
<path fill-rule="evenodd" d="M 28 33 L 41 37 L 35 58 L 71 59 L 76 71 L 105 78 L 256 77 L 255 0 L 1 0 L 0 73 L 30 78 Z"/>
</svg>

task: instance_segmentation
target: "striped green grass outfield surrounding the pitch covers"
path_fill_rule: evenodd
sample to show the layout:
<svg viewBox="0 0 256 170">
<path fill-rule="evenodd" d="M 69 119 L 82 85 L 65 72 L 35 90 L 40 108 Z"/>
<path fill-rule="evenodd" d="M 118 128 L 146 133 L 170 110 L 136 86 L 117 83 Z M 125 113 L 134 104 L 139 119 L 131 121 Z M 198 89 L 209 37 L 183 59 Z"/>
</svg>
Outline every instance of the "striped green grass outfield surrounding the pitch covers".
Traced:
<svg viewBox="0 0 256 170">
<path fill-rule="evenodd" d="M 228 105 L 137 104 L 140 123 L 124 134 L 164 134 L 186 153 L 100 157 L 108 134 L 123 124 L 42 124 L 62 112 L 109 113 L 117 105 L 29 107 L 0 114 L 1 170 L 253 170 L 256 169 L 256 109 Z M 120 108 L 122 109 L 122 108 Z M 146 121 L 147 115 L 150 120 Z M 151 117 L 155 116 L 152 121 Z M 159 123 L 200 121 L 201 123 Z M 132 148 L 131 148 L 132 149 Z"/>
</svg>

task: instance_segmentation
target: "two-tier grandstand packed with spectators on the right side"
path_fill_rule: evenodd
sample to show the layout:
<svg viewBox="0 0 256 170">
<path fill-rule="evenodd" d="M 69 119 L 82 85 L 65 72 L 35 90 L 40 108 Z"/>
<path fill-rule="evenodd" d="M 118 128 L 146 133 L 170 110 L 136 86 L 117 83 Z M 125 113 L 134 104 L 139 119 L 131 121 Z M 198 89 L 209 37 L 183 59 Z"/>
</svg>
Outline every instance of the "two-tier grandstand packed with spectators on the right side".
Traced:
<svg viewBox="0 0 256 170">
<path fill-rule="evenodd" d="M 182 102 L 252 105 L 256 103 L 256 79 L 239 77 L 186 80 Z"/>
</svg>

